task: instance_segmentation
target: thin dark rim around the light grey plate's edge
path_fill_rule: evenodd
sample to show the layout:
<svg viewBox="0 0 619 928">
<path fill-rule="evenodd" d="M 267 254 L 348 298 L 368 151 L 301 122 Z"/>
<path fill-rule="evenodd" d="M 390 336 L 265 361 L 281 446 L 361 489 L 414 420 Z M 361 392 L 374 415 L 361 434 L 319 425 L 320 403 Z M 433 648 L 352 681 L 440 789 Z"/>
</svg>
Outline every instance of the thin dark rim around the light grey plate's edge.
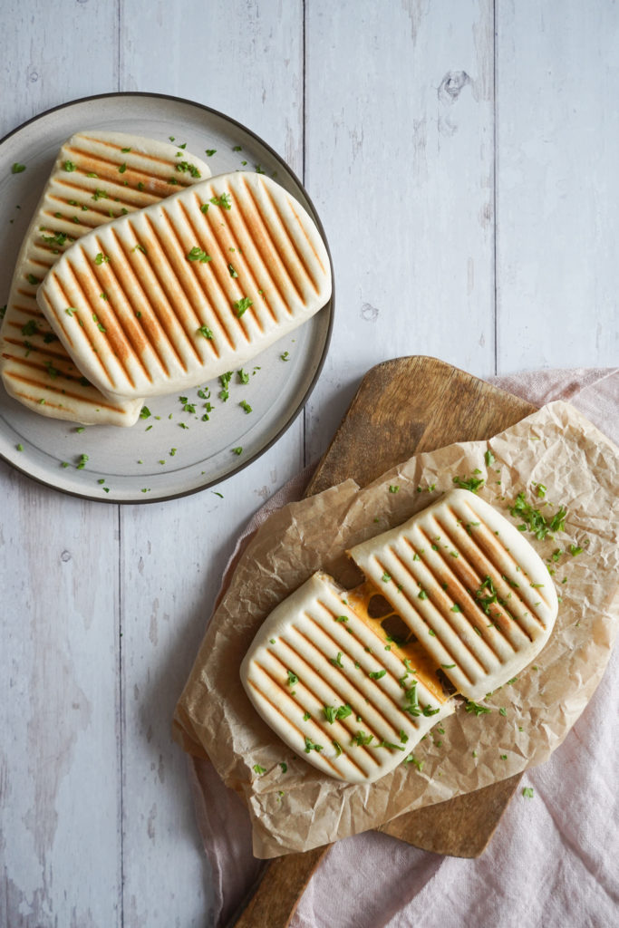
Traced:
<svg viewBox="0 0 619 928">
<path fill-rule="evenodd" d="M 262 458 L 262 456 L 270 448 L 272 448 L 273 445 L 275 445 L 279 441 L 282 435 L 285 432 L 288 432 L 294 420 L 297 419 L 297 417 L 301 415 L 301 413 L 303 412 L 303 409 L 307 405 L 307 401 L 309 400 L 311 394 L 313 393 L 314 388 L 316 387 L 316 382 L 320 374 L 322 373 L 322 368 L 324 367 L 325 361 L 327 359 L 327 354 L 329 354 L 329 345 L 331 342 L 331 334 L 333 331 L 333 315 L 335 311 L 335 275 L 333 272 L 333 259 L 331 257 L 329 241 L 327 239 L 325 229 L 320 221 L 320 217 L 318 216 L 318 213 L 316 212 L 316 207 L 314 205 L 314 202 L 309 196 L 307 190 L 305 189 L 303 181 L 297 176 L 297 174 L 295 174 L 294 171 L 292 171 L 292 169 L 290 168 L 290 165 L 286 161 L 284 161 L 284 159 L 281 157 L 280 154 L 278 154 L 275 148 L 272 148 L 268 144 L 268 142 L 265 142 L 264 139 L 260 135 L 253 132 L 253 130 L 248 128 L 246 125 L 243 125 L 243 123 L 239 122 L 239 120 L 236 120 L 231 116 L 228 116 L 226 113 L 222 112 L 221 110 L 215 110 L 213 107 L 209 107 L 204 103 L 197 103 L 195 100 L 190 100 L 187 97 L 174 97 L 174 95 L 172 94 L 156 94 L 156 93 L 151 94 L 151 93 L 148 93 L 148 91 L 142 91 L 142 90 L 117 91 L 117 92 L 111 92 L 108 94 L 93 94 L 92 96 L 89 96 L 89 97 L 78 97 L 74 100 L 69 100 L 67 103 L 59 103 L 58 106 L 50 107 L 49 110 L 44 110 L 41 113 L 37 113 L 36 116 L 32 116 L 31 119 L 26 120 L 26 122 L 21 122 L 18 126 L 16 126 L 14 129 L 11 129 L 10 132 L 6 133 L 6 135 L 3 135 L 3 137 L 0 138 L 0 146 L 4 145 L 6 140 L 10 138 L 11 135 L 15 135 L 16 133 L 20 132 L 26 126 L 30 125 L 32 122 L 37 122 L 37 120 L 45 119 L 45 117 L 49 116 L 50 113 L 58 112 L 58 110 L 66 110 L 69 107 L 75 106 L 76 104 L 88 103 L 91 100 L 103 100 L 103 99 L 111 99 L 111 98 L 118 98 L 118 97 L 148 97 L 149 99 L 163 99 L 163 100 L 172 101 L 173 103 L 186 104 L 190 107 L 195 107 L 199 110 L 204 110 L 207 113 L 211 113 L 213 114 L 213 116 L 218 116 L 219 118 L 225 120 L 226 122 L 229 122 L 231 125 L 237 126 L 240 130 L 242 130 L 242 132 L 246 132 L 249 135 L 251 135 L 251 137 L 255 139 L 256 142 L 258 142 L 260 145 L 266 148 L 269 154 L 271 154 L 273 158 L 275 158 L 276 161 L 278 161 L 279 164 L 281 164 L 282 168 L 284 168 L 288 172 L 288 174 L 290 174 L 290 177 L 293 179 L 293 181 L 296 184 L 298 184 L 298 186 L 303 190 L 303 196 L 305 197 L 305 200 L 307 200 L 307 204 L 310 208 L 310 212 L 312 213 L 312 217 L 314 221 L 316 222 L 318 231 L 322 237 L 322 240 L 325 243 L 325 248 L 327 249 L 327 254 L 329 256 L 329 266 L 331 269 L 331 297 L 329 300 L 329 303 L 330 303 L 329 326 L 327 328 L 325 346 L 324 346 L 322 355 L 320 357 L 320 360 L 318 362 L 318 366 L 316 367 L 316 372 L 314 374 L 314 377 L 312 378 L 309 386 L 307 387 L 307 390 L 303 394 L 303 397 L 299 403 L 299 406 L 294 410 L 290 418 L 286 420 L 286 422 L 282 425 L 282 427 L 278 430 L 278 432 L 276 432 L 273 438 L 271 438 L 270 441 L 267 442 L 267 444 L 264 445 L 264 447 L 260 449 L 260 451 L 258 451 L 255 455 L 253 455 L 252 458 L 248 458 L 248 460 L 243 461 L 242 463 L 239 462 L 239 464 L 233 470 L 230 470 L 230 472 L 227 473 L 225 477 L 219 478 L 217 480 L 212 480 L 209 483 L 202 483 L 200 484 L 200 486 L 194 487 L 189 490 L 183 490 L 179 493 L 172 493 L 170 494 L 170 496 L 156 496 L 154 498 L 143 497 L 141 499 L 108 499 L 108 498 L 95 499 L 93 496 L 89 496 L 86 493 L 77 493 L 74 490 L 65 490 L 61 487 L 54 486 L 53 483 L 48 483 L 45 480 L 41 480 L 38 477 L 34 477 L 28 470 L 24 470 L 20 468 L 14 461 L 9 460 L 9 458 L 6 458 L 3 454 L 0 453 L 0 460 L 5 461 L 5 463 L 13 470 L 17 470 L 18 473 L 23 474 L 24 477 L 28 477 L 28 479 L 34 481 L 34 483 L 39 483 L 41 486 L 45 486 L 52 490 L 56 490 L 56 492 L 63 493 L 66 496 L 75 496 L 78 499 L 87 499 L 89 502 L 103 503 L 104 505 L 107 505 L 107 506 L 148 506 L 148 505 L 153 505 L 156 503 L 164 503 L 170 499 L 180 499 L 183 496 L 193 496 L 196 493 L 201 493 L 203 490 L 208 490 L 213 486 L 217 486 L 218 483 L 222 483 L 223 480 L 229 480 L 230 477 L 236 476 L 241 470 L 245 470 L 246 468 L 250 467 L 250 465 L 253 464 L 254 461 L 258 460 L 258 458 Z"/>
</svg>

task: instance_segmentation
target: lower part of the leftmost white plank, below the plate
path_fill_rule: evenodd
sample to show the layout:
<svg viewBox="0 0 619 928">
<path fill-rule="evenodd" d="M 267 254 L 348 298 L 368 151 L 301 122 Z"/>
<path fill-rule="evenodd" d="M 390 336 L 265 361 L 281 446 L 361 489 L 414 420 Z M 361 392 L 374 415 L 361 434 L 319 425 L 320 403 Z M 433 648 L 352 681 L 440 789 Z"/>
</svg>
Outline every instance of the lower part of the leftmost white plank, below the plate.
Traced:
<svg viewBox="0 0 619 928">
<path fill-rule="evenodd" d="M 0 499 L 0 924 L 120 925 L 117 508 Z"/>
</svg>

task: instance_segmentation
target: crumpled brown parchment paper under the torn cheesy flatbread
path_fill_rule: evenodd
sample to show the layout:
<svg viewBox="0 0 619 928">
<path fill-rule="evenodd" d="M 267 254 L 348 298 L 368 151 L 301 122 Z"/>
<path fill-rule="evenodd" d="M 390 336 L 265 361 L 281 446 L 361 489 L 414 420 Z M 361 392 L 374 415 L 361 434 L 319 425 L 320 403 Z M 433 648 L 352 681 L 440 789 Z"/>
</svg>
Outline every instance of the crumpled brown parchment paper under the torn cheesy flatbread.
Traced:
<svg viewBox="0 0 619 928">
<path fill-rule="evenodd" d="M 488 449 L 495 459 L 486 467 Z M 525 534 L 554 572 L 548 582 L 561 598 L 548 645 L 515 682 L 486 698 L 489 714 L 469 714 L 462 702 L 433 728 L 414 750 L 421 769 L 401 765 L 368 785 L 320 774 L 279 741 L 240 684 L 239 664 L 253 636 L 318 569 L 355 586 L 362 577 L 346 548 L 405 522 L 451 489 L 454 476 L 476 470 L 484 478 L 479 495 L 516 524 L 522 519 L 510 516 L 509 507 L 521 491 L 548 519 L 560 506 L 567 509 L 565 528 L 554 537 Z M 399 491 L 390 493 L 390 484 Z M 416 455 L 364 489 L 346 481 L 264 523 L 213 613 L 174 716 L 177 741 L 190 754 L 208 756 L 247 804 L 256 857 L 376 828 L 548 759 L 600 682 L 619 626 L 618 490 L 619 449 L 573 406 L 557 402 L 487 442 Z M 571 545 L 582 552 L 570 553 Z M 256 774 L 254 765 L 265 773 Z"/>
</svg>

